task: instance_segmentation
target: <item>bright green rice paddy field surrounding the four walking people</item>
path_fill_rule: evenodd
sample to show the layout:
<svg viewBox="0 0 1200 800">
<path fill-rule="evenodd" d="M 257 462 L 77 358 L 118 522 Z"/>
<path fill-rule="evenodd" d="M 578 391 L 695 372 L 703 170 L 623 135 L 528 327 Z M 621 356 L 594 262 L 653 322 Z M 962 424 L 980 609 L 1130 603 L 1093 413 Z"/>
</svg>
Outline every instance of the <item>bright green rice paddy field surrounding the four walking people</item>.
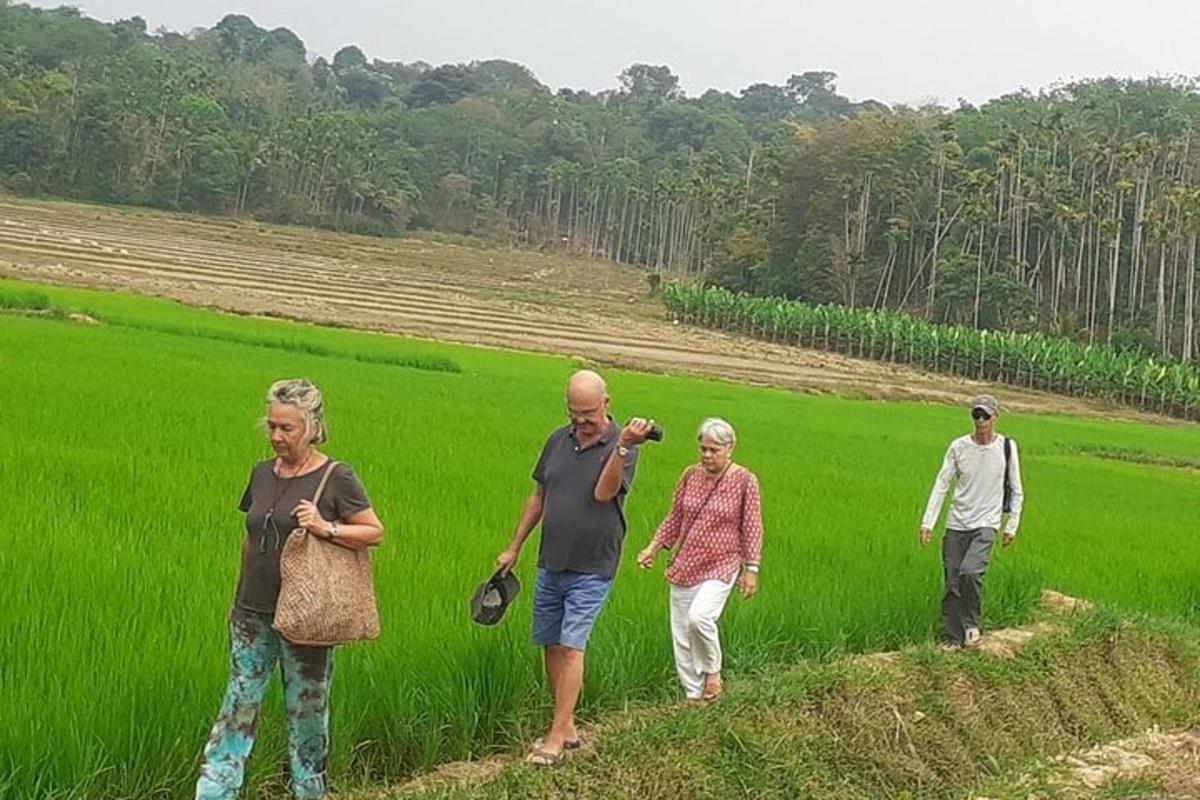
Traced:
<svg viewBox="0 0 1200 800">
<path fill-rule="evenodd" d="M 323 387 L 328 451 L 354 464 L 388 529 L 383 637 L 336 660 L 337 780 L 402 776 L 538 730 L 528 594 L 496 628 L 473 625 L 467 600 L 563 422 L 577 363 L 0 282 L 30 290 L 101 323 L 0 315 L 0 795 L 188 794 L 227 676 L 236 501 L 269 456 L 257 422 L 282 377 Z M 917 546 L 917 525 L 964 409 L 607 377 L 616 413 L 655 416 L 667 439 L 647 446 L 629 500 L 586 712 L 676 697 L 661 566 L 644 573 L 632 555 L 706 415 L 737 426 L 764 498 L 762 591 L 731 600 L 724 625 L 732 680 L 935 636 L 938 552 Z M 1195 426 L 1012 416 L 1001 429 L 1021 444 L 1027 505 L 1016 547 L 992 563 L 988 625 L 1026 619 L 1044 587 L 1196 615 Z M 532 541 L 527 590 L 535 559 Z M 258 787 L 281 770 L 280 700 L 252 759 Z"/>
</svg>

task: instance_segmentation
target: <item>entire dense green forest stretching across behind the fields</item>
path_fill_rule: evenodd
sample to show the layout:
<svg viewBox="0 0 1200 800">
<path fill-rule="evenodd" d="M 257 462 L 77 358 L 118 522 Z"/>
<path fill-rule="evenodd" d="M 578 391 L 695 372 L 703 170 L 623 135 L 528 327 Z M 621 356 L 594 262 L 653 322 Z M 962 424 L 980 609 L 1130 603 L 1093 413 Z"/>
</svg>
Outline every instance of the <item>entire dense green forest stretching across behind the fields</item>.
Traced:
<svg viewBox="0 0 1200 800">
<path fill-rule="evenodd" d="M 0 0 L 0 188 L 433 229 L 809 302 L 1196 356 L 1200 91 L 1093 79 L 982 107 L 836 76 L 688 97 L 508 61 L 311 59 L 244 16 L 148 32 Z"/>
</svg>

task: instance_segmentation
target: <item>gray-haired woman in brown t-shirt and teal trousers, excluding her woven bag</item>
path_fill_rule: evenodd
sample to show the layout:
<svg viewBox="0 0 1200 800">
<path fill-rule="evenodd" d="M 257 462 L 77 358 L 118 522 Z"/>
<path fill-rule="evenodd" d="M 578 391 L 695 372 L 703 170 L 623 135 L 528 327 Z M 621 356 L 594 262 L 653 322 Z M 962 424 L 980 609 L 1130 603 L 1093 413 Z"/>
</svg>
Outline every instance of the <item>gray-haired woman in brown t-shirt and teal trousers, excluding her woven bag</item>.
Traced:
<svg viewBox="0 0 1200 800">
<path fill-rule="evenodd" d="M 198 800 L 238 795 L 276 662 L 283 675 L 292 792 L 300 800 L 325 796 L 332 648 L 292 644 L 272 630 L 280 554 L 296 528 L 352 548 L 383 540 L 383 524 L 354 470 L 317 450 L 328 438 L 320 390 L 304 379 L 281 380 L 266 392 L 266 405 L 275 458 L 254 467 L 239 505 L 246 541 L 229 614 L 229 686 L 204 747 Z"/>
</svg>

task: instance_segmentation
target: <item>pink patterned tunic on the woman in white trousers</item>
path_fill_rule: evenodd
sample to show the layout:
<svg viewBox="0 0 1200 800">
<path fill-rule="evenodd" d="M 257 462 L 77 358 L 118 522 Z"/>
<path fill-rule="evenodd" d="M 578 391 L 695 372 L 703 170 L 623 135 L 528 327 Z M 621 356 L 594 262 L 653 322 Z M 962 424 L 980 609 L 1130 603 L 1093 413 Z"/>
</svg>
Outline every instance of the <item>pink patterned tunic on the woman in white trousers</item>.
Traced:
<svg viewBox="0 0 1200 800">
<path fill-rule="evenodd" d="M 676 486 L 671 513 L 659 525 L 654 541 L 672 547 L 684 537 L 666 578 L 679 587 L 704 581 L 733 581 L 743 564 L 762 558 L 762 500 L 758 479 L 744 467 L 731 467 L 708 498 L 713 477 L 703 467 L 684 470 Z M 703 505 L 703 507 L 701 507 Z"/>
</svg>

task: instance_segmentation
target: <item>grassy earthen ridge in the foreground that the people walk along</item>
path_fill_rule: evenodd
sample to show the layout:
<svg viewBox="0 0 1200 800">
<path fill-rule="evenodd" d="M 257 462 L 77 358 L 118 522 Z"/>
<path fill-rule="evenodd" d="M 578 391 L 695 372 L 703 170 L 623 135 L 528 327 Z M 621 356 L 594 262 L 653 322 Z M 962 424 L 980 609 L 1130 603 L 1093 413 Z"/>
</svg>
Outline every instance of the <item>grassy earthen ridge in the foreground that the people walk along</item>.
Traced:
<svg viewBox="0 0 1200 800">
<path fill-rule="evenodd" d="M 708 708 L 610 715 L 554 770 L 493 756 L 347 796 L 1075 800 L 1098 796 L 1080 787 L 1115 792 L 1158 766 L 1176 794 L 1153 796 L 1200 792 L 1200 771 L 1166 758 L 1196 741 L 1186 732 L 1200 697 L 1194 628 L 1122 620 L 1046 591 L 1037 620 L 984 642 L 978 652 L 922 645 L 780 667 L 731 682 Z M 1164 727 L 1184 733 L 1163 738 Z M 1130 766 L 1123 752 L 1142 758 Z"/>
</svg>

